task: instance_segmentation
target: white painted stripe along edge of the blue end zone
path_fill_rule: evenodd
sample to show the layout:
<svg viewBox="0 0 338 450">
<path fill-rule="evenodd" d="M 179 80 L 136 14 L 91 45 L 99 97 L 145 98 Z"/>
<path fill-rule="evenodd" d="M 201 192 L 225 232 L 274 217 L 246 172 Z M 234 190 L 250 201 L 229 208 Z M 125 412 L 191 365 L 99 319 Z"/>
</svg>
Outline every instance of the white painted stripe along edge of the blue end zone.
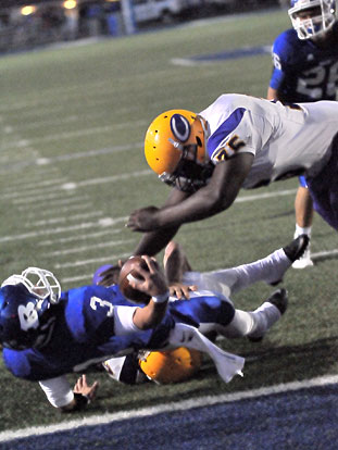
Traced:
<svg viewBox="0 0 338 450">
<path fill-rule="evenodd" d="M 25 438 L 30 436 L 41 436 L 57 432 L 65 432 L 67 429 L 77 428 L 79 426 L 93 426 L 103 425 L 111 422 L 127 421 L 130 418 L 139 418 L 146 416 L 153 416 L 154 414 L 162 414 L 174 411 L 186 411 L 192 408 L 212 407 L 218 403 L 230 403 L 246 399 L 254 399 L 258 397 L 266 397 L 276 393 L 296 391 L 300 389 L 309 389 L 312 387 L 335 385 L 338 383 L 338 375 L 327 375 L 316 378 L 305 379 L 302 382 L 291 382 L 280 384 L 276 386 L 263 387 L 259 389 L 252 389 L 247 391 L 239 391 L 233 393 L 224 393 L 221 396 L 205 396 L 191 400 L 184 400 L 180 402 L 173 402 L 161 404 L 157 407 L 142 408 L 132 411 L 120 411 L 117 413 L 92 415 L 74 421 L 67 421 L 61 424 L 53 424 L 49 426 L 29 427 L 24 429 L 17 429 L 14 432 L 0 433 L 0 442 L 7 440 L 13 440 L 18 438 Z"/>
</svg>

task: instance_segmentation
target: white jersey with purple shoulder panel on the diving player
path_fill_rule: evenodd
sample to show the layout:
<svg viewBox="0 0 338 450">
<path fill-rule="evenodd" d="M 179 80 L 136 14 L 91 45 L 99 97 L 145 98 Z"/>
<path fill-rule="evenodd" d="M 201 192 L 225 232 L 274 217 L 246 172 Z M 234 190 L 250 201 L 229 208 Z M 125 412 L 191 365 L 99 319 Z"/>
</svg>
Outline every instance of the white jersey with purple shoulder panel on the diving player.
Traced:
<svg viewBox="0 0 338 450">
<path fill-rule="evenodd" d="M 215 164 L 235 153 L 254 155 L 242 185 L 247 189 L 290 176 L 315 176 L 328 161 L 330 143 L 338 134 L 336 101 L 287 107 L 228 93 L 200 115 L 209 124 L 206 148 Z"/>
</svg>

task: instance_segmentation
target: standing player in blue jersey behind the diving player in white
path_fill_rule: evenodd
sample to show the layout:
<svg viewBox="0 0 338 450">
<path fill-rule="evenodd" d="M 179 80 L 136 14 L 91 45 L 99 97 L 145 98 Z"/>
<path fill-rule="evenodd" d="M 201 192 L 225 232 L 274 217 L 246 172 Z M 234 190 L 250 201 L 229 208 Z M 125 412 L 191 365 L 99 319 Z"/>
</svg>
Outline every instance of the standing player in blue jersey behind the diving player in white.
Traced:
<svg viewBox="0 0 338 450">
<path fill-rule="evenodd" d="M 293 28 L 281 33 L 273 46 L 274 70 L 267 98 L 285 103 L 336 100 L 338 88 L 338 23 L 335 0 L 291 0 Z M 311 236 L 312 199 L 305 177 L 295 200 L 295 236 Z M 293 267 L 313 265 L 310 246 Z"/>
</svg>

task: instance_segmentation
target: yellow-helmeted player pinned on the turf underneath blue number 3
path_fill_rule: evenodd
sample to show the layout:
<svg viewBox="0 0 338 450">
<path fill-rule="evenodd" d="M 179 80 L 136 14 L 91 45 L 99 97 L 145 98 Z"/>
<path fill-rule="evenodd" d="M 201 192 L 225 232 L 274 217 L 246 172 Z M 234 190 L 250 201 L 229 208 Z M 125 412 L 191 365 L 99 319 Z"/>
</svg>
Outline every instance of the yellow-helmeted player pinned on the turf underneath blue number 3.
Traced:
<svg viewBox="0 0 338 450">
<path fill-rule="evenodd" d="M 279 249 L 251 264 L 205 273 L 192 272 L 181 248 L 172 241 L 166 246 L 163 260 L 171 295 L 175 296 L 175 299 L 180 299 L 189 298 L 191 290 L 209 290 L 230 298 L 233 293 L 254 283 L 271 284 L 277 279 L 281 280 L 283 274 L 291 264 L 290 261 L 297 260 L 297 257 L 300 257 L 306 248 L 306 237 L 302 237 L 287 246 L 285 250 Z M 285 258 L 285 252 L 287 252 L 288 259 Z M 93 276 L 95 284 L 102 282 L 100 274 L 102 270 L 107 268 L 108 266 L 102 266 L 97 270 Z M 117 280 L 117 271 L 115 274 Z M 191 295 L 193 296 L 193 293 Z M 241 312 L 236 310 L 236 315 L 240 316 L 240 314 Z M 211 337 L 208 329 L 200 328 L 200 330 Z M 253 338 L 251 337 L 250 340 Z M 155 383 L 166 384 L 190 378 L 198 372 L 201 363 L 201 354 L 189 349 L 178 348 L 165 352 L 140 352 L 140 354 L 135 352 L 126 357 L 113 358 L 105 361 L 103 365 L 112 378 L 122 383 L 139 384 L 150 378 Z M 145 374 L 148 378 L 145 377 Z"/>
</svg>

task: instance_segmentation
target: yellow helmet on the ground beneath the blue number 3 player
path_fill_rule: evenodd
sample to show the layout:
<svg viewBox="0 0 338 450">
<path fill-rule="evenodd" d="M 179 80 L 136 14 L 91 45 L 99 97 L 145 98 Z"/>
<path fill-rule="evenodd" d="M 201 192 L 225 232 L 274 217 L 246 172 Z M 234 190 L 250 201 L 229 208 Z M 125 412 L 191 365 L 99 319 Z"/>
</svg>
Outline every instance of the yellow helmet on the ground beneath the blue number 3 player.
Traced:
<svg viewBox="0 0 338 450">
<path fill-rule="evenodd" d="M 140 360 L 145 374 L 159 384 L 179 383 L 191 378 L 202 364 L 198 350 L 179 347 L 168 351 L 152 351 Z"/>
</svg>

